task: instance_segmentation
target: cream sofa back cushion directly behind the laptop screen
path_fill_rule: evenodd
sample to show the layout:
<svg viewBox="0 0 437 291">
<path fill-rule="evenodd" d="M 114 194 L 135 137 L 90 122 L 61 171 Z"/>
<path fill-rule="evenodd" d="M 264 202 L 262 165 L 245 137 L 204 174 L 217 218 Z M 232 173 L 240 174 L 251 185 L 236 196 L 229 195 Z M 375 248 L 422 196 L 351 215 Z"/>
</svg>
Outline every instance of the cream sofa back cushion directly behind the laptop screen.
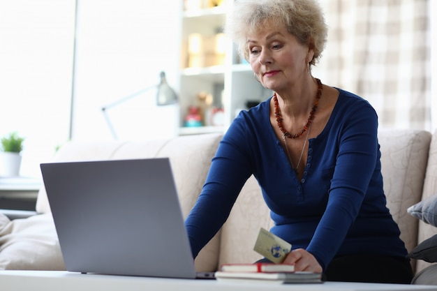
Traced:
<svg viewBox="0 0 437 291">
<path fill-rule="evenodd" d="M 54 162 L 126 160 L 131 158 L 170 158 L 173 177 L 184 217 L 193 208 L 202 191 L 209 166 L 222 133 L 186 135 L 162 140 L 129 142 L 68 142 L 54 156 Z M 50 214 L 45 188 L 38 193 L 38 213 Z M 215 271 L 218 265 L 220 232 L 209 241 L 195 259 L 197 271 Z"/>
</svg>

